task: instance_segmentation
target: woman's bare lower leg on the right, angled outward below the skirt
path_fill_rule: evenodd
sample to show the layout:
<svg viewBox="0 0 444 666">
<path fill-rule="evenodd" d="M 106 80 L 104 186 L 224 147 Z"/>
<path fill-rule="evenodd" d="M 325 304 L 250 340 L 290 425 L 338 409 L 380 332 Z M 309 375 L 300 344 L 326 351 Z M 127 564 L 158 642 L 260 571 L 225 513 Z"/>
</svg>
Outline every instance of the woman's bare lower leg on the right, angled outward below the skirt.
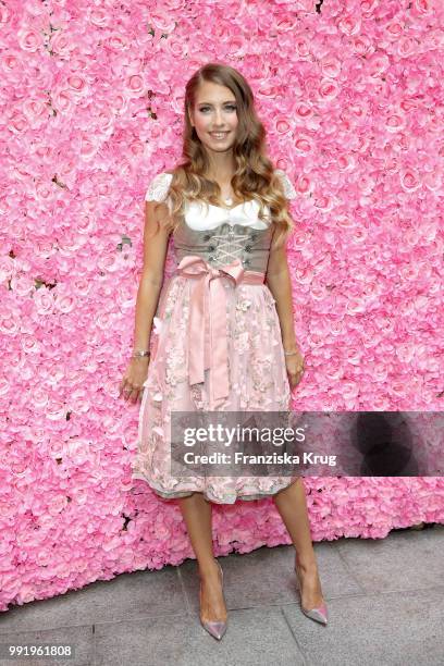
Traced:
<svg viewBox="0 0 444 666">
<path fill-rule="evenodd" d="M 311 542 L 305 485 L 301 478 L 273 495 L 273 502 L 288 530 L 296 548 L 296 563 L 303 578 L 303 605 L 306 608 L 319 606 L 322 589 L 318 565 Z"/>
</svg>

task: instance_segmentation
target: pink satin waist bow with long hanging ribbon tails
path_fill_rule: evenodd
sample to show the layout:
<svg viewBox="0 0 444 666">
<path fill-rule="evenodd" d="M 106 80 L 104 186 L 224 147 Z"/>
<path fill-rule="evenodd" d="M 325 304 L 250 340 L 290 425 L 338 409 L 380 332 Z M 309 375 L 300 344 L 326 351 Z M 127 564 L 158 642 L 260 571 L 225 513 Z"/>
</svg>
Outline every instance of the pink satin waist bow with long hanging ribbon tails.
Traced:
<svg viewBox="0 0 444 666">
<path fill-rule="evenodd" d="M 245 271 L 239 259 L 219 269 L 197 255 L 184 257 L 177 273 L 196 280 L 192 292 L 188 322 L 189 385 L 205 381 L 211 369 L 210 410 L 230 395 L 226 338 L 226 294 L 221 278 L 262 284 L 264 273 Z"/>
</svg>

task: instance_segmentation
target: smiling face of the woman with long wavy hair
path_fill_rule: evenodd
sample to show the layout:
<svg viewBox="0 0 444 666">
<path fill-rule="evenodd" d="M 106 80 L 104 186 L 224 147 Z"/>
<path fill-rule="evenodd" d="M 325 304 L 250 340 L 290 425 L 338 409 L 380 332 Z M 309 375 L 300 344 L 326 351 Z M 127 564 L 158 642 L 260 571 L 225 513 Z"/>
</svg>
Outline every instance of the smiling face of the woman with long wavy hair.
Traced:
<svg viewBox="0 0 444 666">
<path fill-rule="evenodd" d="M 236 106 L 230 88 L 207 81 L 200 84 L 189 120 L 208 151 L 226 152 L 233 146 L 238 123 Z"/>
</svg>

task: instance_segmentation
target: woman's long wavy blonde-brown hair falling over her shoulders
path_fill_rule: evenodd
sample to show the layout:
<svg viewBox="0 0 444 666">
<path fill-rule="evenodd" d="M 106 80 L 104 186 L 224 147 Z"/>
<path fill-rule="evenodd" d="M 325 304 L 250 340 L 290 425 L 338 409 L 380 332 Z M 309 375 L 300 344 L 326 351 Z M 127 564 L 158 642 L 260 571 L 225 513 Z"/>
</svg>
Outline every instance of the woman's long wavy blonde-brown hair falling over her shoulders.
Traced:
<svg viewBox="0 0 444 666">
<path fill-rule="evenodd" d="M 183 162 L 170 171 L 173 175 L 169 189 L 170 215 L 163 222 L 174 233 L 183 219 L 186 199 L 214 206 L 221 199 L 218 183 L 202 175 L 209 168 L 209 159 L 188 115 L 188 111 L 195 108 L 197 90 L 203 82 L 230 88 L 236 99 L 238 124 L 233 145 L 235 172 L 231 185 L 236 199 L 258 201 L 260 220 L 264 218 L 264 206 L 269 207 L 271 224 L 276 232 L 273 246 L 276 247 L 281 238 L 287 238 L 294 222 L 288 214 L 282 181 L 267 156 L 266 130 L 257 116 L 251 88 L 237 70 L 224 64 L 203 65 L 186 84 Z"/>
</svg>

